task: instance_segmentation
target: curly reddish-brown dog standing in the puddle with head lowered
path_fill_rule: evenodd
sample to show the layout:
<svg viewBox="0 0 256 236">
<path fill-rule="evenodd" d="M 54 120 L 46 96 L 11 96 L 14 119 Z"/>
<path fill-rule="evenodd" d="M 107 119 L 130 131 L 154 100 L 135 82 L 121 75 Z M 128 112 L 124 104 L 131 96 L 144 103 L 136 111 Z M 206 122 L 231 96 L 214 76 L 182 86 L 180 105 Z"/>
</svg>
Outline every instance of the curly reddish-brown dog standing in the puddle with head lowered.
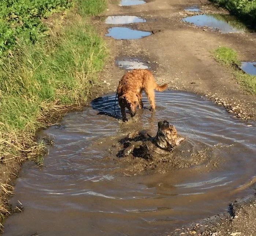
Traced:
<svg viewBox="0 0 256 236">
<path fill-rule="evenodd" d="M 151 71 L 147 69 L 134 69 L 133 71 L 127 71 L 119 81 L 117 87 L 118 103 L 121 108 L 121 114 L 123 121 L 126 122 L 125 108 L 129 110 L 131 117 L 136 114 L 137 105 L 141 109 L 142 103 L 142 91 L 145 91 L 150 103 L 149 110 L 155 110 L 155 92 L 154 90 L 162 92 L 167 88 L 167 84 L 159 86 Z"/>
</svg>

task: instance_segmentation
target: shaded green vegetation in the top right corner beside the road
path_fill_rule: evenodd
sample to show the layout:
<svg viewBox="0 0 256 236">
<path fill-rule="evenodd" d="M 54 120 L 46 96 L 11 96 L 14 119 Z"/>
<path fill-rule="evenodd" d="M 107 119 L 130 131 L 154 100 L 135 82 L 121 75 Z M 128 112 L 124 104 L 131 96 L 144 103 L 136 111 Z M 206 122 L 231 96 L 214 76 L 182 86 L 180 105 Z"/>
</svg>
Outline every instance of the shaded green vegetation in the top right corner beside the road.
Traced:
<svg viewBox="0 0 256 236">
<path fill-rule="evenodd" d="M 210 0 L 219 7 L 227 9 L 231 15 L 237 16 L 242 22 L 255 29 L 256 0 Z"/>
</svg>

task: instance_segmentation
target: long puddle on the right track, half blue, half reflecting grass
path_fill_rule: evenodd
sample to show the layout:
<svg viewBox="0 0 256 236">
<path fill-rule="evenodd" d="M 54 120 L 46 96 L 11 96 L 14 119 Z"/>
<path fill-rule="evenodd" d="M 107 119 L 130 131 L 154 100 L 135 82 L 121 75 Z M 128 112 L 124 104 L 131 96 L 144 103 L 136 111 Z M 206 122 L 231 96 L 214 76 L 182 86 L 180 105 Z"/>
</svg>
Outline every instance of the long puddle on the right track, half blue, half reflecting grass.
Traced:
<svg viewBox="0 0 256 236">
<path fill-rule="evenodd" d="M 243 33 L 246 27 L 230 15 L 196 15 L 182 19 L 184 22 L 193 23 L 196 26 L 214 28 L 221 33 Z"/>
</svg>

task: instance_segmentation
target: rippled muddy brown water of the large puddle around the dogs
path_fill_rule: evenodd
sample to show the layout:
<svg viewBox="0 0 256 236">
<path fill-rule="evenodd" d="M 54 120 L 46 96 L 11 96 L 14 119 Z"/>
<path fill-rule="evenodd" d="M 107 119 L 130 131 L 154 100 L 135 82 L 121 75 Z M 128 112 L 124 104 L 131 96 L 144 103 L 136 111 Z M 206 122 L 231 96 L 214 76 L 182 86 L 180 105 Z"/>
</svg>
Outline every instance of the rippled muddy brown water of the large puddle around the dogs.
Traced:
<svg viewBox="0 0 256 236">
<path fill-rule="evenodd" d="M 255 176 L 255 123 L 247 126 L 197 95 L 156 93 L 156 112 L 145 109 L 127 123 L 114 117 L 115 94 L 68 113 L 60 125 L 38 135 L 54 137 L 44 167 L 26 162 L 11 202 L 23 204 L 4 223 L 4 235 L 165 235 L 190 221 L 226 212 L 228 203 L 251 193 L 231 191 Z M 120 110 L 116 105 L 118 115 Z M 108 149 L 133 129 L 156 133 L 166 119 L 190 141 L 212 147 L 220 162 L 203 170 L 185 168 L 138 176 L 115 173 Z M 112 156 L 115 162 L 118 158 Z"/>
</svg>

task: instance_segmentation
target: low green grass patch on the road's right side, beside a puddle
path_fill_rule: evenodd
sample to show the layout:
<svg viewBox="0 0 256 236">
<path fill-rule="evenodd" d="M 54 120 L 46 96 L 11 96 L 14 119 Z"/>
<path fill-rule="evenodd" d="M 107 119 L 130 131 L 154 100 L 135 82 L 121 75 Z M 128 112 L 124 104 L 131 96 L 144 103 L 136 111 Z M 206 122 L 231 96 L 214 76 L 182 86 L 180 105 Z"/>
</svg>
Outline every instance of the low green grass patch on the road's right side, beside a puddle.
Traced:
<svg viewBox="0 0 256 236">
<path fill-rule="evenodd" d="M 241 71 L 241 62 L 237 52 L 229 47 L 219 47 L 213 53 L 216 61 L 232 70 L 235 79 L 251 94 L 256 94 L 256 76 L 248 75 Z"/>
</svg>

